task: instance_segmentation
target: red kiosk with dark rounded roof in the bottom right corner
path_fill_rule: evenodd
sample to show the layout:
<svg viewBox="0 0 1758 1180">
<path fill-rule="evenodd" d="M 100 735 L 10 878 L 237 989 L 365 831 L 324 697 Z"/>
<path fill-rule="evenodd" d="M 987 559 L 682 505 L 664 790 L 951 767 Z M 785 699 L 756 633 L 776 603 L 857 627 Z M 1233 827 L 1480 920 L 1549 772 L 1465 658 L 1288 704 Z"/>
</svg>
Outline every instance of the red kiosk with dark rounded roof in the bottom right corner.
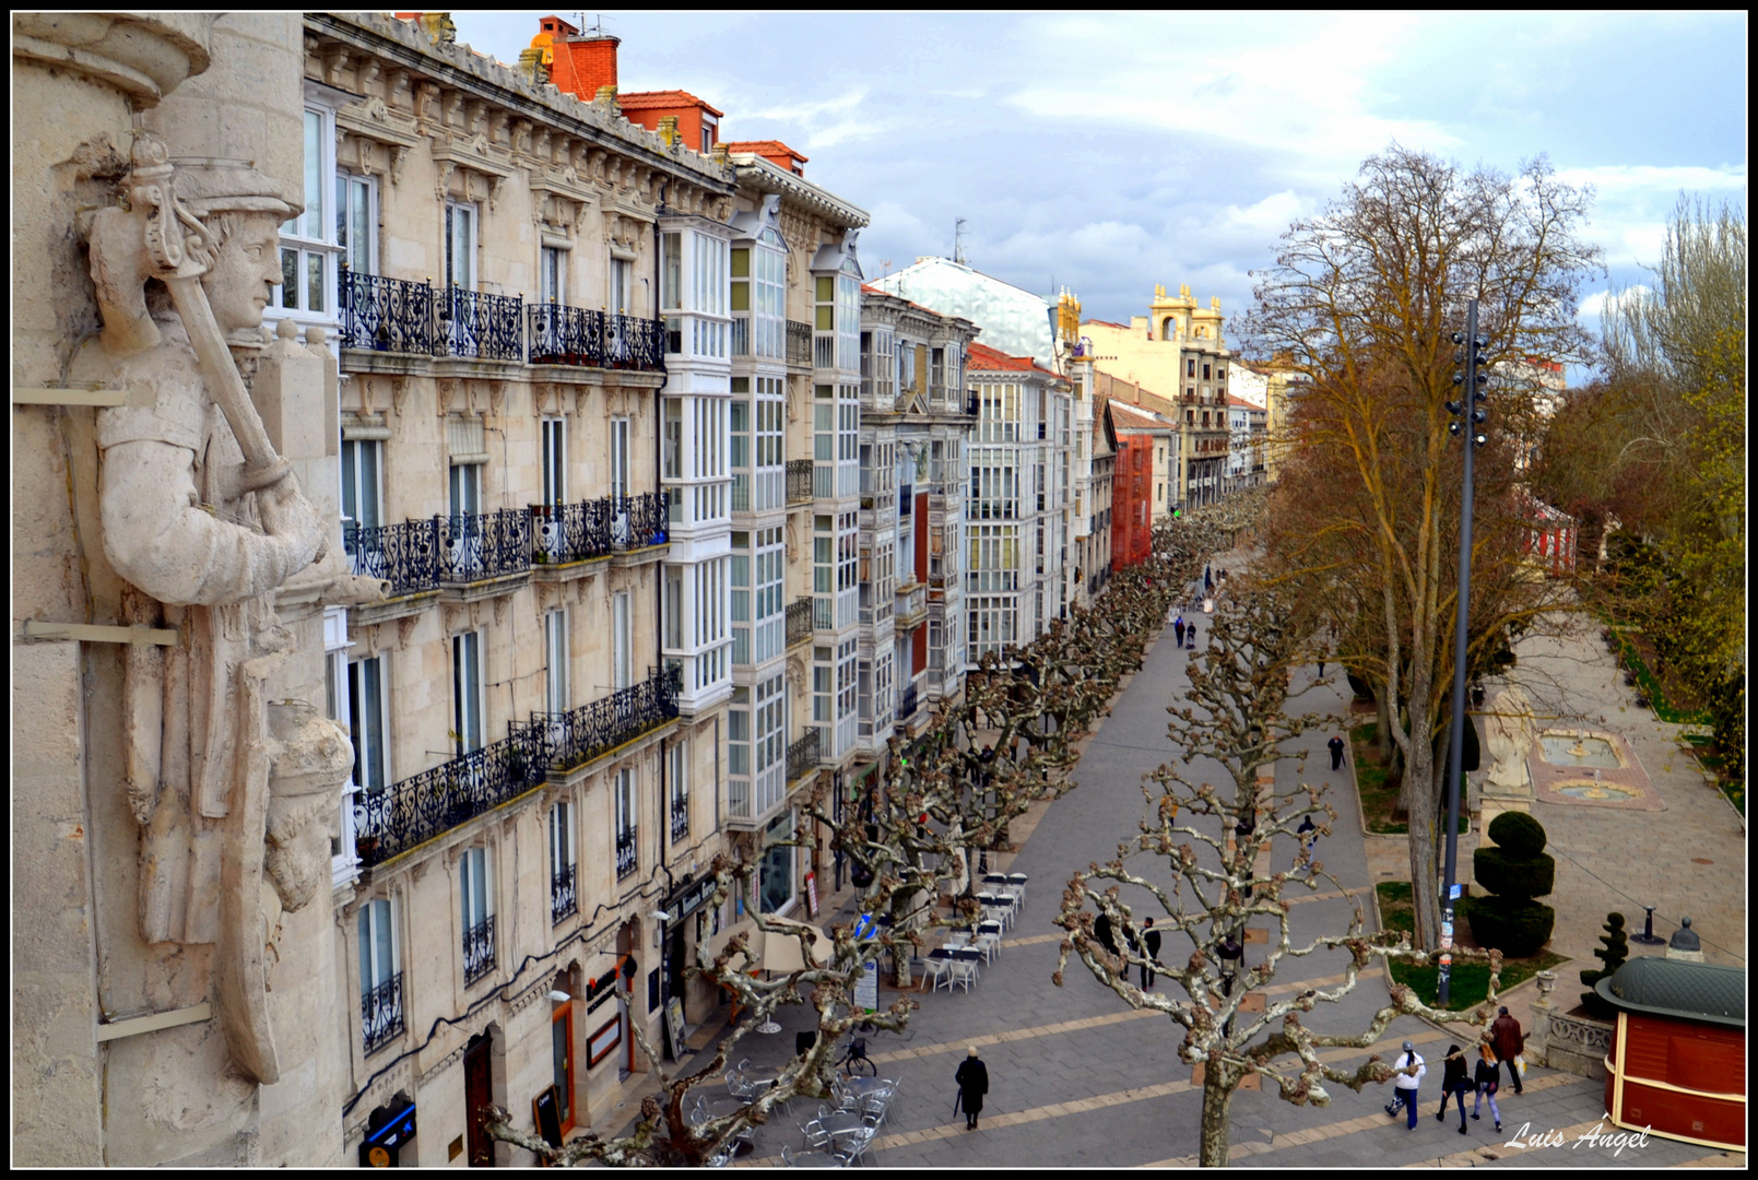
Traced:
<svg viewBox="0 0 1758 1180">
<path fill-rule="evenodd" d="M 1595 990 L 1617 1008 L 1605 1057 L 1612 1122 L 1746 1150 L 1746 972 L 1631 958 Z"/>
</svg>

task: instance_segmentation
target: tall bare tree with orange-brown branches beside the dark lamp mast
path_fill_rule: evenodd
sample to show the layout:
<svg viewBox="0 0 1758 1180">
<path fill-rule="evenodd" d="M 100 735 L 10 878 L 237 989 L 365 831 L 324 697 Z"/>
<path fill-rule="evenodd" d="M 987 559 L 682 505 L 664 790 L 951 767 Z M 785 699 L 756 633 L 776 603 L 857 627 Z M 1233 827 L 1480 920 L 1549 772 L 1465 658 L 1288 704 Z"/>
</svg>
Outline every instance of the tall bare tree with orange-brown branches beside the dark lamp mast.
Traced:
<svg viewBox="0 0 1758 1180">
<path fill-rule="evenodd" d="M 1340 200 L 1283 234 L 1243 325 L 1253 352 L 1285 355 L 1304 378 L 1296 431 L 1317 431 L 1306 440 L 1313 463 L 1327 459 L 1304 485 L 1348 492 L 1334 535 L 1354 549 L 1345 563 L 1369 566 L 1354 580 L 1373 600 L 1380 640 L 1369 651 L 1384 651 L 1385 725 L 1410 781 L 1410 879 L 1422 946 L 1436 944 L 1440 925 L 1433 818 L 1445 774 L 1436 774 L 1433 737 L 1452 681 L 1457 591 L 1457 543 L 1449 543 L 1457 522 L 1457 492 L 1449 498 L 1449 489 L 1459 484 L 1461 463 L 1447 410 L 1459 396 L 1452 334 L 1466 322 L 1466 301 L 1478 299 L 1478 332 L 1496 375 L 1486 433 L 1500 438 L 1498 399 L 1540 392 L 1529 359 L 1580 362 L 1589 353 L 1575 317 L 1582 281 L 1600 269 L 1600 251 L 1580 237 L 1589 204 L 1591 192 L 1559 183 L 1544 158 L 1517 178 L 1468 174 L 1394 144 L 1362 164 Z M 1478 478 L 1512 461 L 1512 447 L 1484 448 Z M 1333 559 L 1310 561 L 1306 582 L 1322 584 Z M 1517 603 L 1515 614 L 1536 608 Z M 1500 642 L 1489 637 L 1501 630 L 1484 619 L 1480 642 Z"/>
</svg>

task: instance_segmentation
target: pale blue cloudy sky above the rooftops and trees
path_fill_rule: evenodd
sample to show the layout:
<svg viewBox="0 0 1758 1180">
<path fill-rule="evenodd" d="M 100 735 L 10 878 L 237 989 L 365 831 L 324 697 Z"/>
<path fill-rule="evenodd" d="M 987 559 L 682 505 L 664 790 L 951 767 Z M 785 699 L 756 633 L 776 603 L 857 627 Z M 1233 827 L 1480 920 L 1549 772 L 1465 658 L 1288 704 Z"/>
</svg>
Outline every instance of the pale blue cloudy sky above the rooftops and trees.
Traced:
<svg viewBox="0 0 1758 1180">
<path fill-rule="evenodd" d="M 454 12 L 517 62 L 543 12 Z M 571 12 L 564 19 L 577 19 Z M 870 276 L 951 255 L 1090 318 L 1190 283 L 1229 315 L 1297 216 L 1392 141 L 1593 185 L 1609 283 L 1681 190 L 1746 204 L 1744 14 L 603 12 L 622 90 L 680 88 L 723 139 L 782 139 L 861 206 Z M 1596 317 L 1607 280 L 1586 292 Z M 1598 292 L 1598 294 L 1596 294 Z"/>
</svg>

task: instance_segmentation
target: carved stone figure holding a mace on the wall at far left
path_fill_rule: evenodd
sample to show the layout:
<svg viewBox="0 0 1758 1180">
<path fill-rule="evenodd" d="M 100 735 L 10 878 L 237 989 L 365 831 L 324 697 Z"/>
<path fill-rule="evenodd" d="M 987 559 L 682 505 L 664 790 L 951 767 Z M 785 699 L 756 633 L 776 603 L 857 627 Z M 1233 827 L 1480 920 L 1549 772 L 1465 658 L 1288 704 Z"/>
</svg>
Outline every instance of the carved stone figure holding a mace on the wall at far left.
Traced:
<svg viewBox="0 0 1758 1180">
<path fill-rule="evenodd" d="M 128 584 L 125 621 L 179 637 L 125 656 L 141 932 L 213 948 L 214 1015 L 232 1059 L 272 1083 L 264 992 L 278 909 L 329 885 L 352 761 L 339 725 L 309 703 L 267 700 L 269 675 L 294 649 L 274 591 L 301 575 L 343 601 L 376 587 L 346 579 L 327 552 L 323 521 L 274 452 L 225 343 L 260 331 L 281 281 L 278 229 L 299 209 L 246 164 L 172 164 L 151 135 L 137 137 L 121 188 L 125 204 L 98 211 L 88 230 L 104 334 L 76 373 L 139 403 L 98 415 L 104 554 Z"/>
</svg>

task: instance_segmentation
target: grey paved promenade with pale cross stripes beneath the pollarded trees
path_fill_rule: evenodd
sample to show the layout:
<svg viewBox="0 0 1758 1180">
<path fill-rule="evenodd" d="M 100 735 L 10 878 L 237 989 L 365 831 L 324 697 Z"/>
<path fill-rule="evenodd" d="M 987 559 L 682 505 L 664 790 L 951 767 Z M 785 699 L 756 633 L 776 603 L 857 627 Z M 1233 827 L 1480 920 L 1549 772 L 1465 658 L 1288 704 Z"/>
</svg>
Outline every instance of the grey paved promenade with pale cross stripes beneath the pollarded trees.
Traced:
<svg viewBox="0 0 1758 1180">
<path fill-rule="evenodd" d="M 1206 628 L 1204 628 L 1206 630 Z M 1027 907 L 1002 943 L 1002 953 L 983 967 L 969 992 L 918 995 L 921 1009 L 900 1038 L 875 1034 L 868 1052 L 881 1076 L 900 1083 L 898 1099 L 874 1141 L 870 1162 L 895 1168 L 1034 1168 L 1034 1166 L 1192 1166 L 1197 1152 L 1201 1087 L 1192 1085 L 1190 1066 L 1178 1060 L 1183 1031 L 1159 1013 L 1134 1011 L 1101 987 L 1085 965 L 1071 962 L 1065 987 L 1051 983 L 1062 930 L 1051 925 L 1057 899 L 1074 869 L 1109 860 L 1118 841 L 1137 832 L 1143 809 L 1141 777 L 1174 751 L 1166 737 L 1166 707 L 1187 688 L 1188 652 L 1174 651 L 1171 633 L 1150 651 L 1146 666 L 1120 691 L 1111 717 L 1086 740 L 1074 770 L 1079 783 L 1064 798 L 1014 827 L 1023 846 L 1006 865 L 1030 874 Z M 1311 686 L 1313 670 L 1296 674 L 1299 693 L 1290 710 L 1336 714 L 1345 700 L 1334 686 Z M 1347 691 L 1347 689 L 1345 689 Z M 1355 900 L 1371 907 L 1366 841 L 1345 767 L 1329 770 L 1324 742 L 1334 730 L 1318 728 L 1294 742 L 1278 763 L 1276 786 L 1297 781 L 1324 784 L 1338 809 L 1334 834 L 1318 842 L 1318 858 L 1341 881 L 1340 893 L 1327 883 L 1301 897 L 1290 911 L 1294 937 L 1343 930 Z M 1297 754 L 1304 754 L 1303 765 Z M 1194 763 L 1190 777 L 1201 781 L 1204 767 Z M 1208 768 L 1217 781 L 1218 768 Z M 1292 860 L 1292 842 L 1278 841 L 1271 856 Z M 1139 860 L 1155 876 L 1150 858 Z M 1164 874 L 1169 883 L 1171 874 Z M 1153 913 L 1127 899 L 1137 916 Z M 840 920 L 853 911 L 846 911 Z M 1707 911 L 1705 911 L 1707 913 Z M 1167 937 L 1162 958 L 1188 953 Z M 1246 948 L 1246 962 L 1255 957 Z M 1268 988 L 1287 995 L 1318 983 L 1336 983 L 1341 957 L 1315 955 L 1285 960 Z M 890 1002 L 893 992 L 881 992 Z M 1308 1023 L 1329 1031 L 1357 1031 L 1373 1009 L 1387 1002 L 1384 978 L 1364 976 L 1341 1004 L 1315 1009 Z M 784 1031 L 749 1034 L 740 1055 L 752 1064 L 781 1064 L 793 1052 L 793 1032 L 810 1027 L 807 1009 L 784 1009 Z M 907 1039 L 905 1039 L 907 1038 Z M 1440 1059 L 1450 1034 L 1413 1018 L 1391 1025 L 1384 1057 L 1392 1057 L 1405 1039 L 1417 1043 L 1431 1062 L 1420 1090 L 1415 1131 L 1384 1113 L 1389 1087 L 1354 1094 L 1333 1087 L 1331 1104 L 1292 1106 L 1275 1087 L 1241 1090 L 1232 1103 L 1232 1159 L 1241 1166 L 1744 1166 L 1744 1155 L 1649 1140 L 1642 1147 L 1582 1140 L 1602 1118 L 1602 1083 L 1531 1069 L 1526 1092 L 1498 1096 L 1503 1133 L 1486 1115 L 1457 1133 L 1457 1117 L 1435 1120 L 1440 1106 Z M 1457 1038 L 1452 1038 L 1457 1039 Z M 953 1071 L 976 1045 L 988 1064 L 990 1096 L 981 1125 L 965 1131 L 953 1115 Z M 1340 1066 L 1366 1060 L 1371 1050 L 1331 1050 L 1324 1057 Z M 710 1089 L 712 1094 L 712 1089 Z M 759 1129 L 756 1150 L 740 1164 L 779 1164 L 782 1145 L 798 1147 L 807 1103 L 795 1117 L 779 1117 Z M 1610 1134 L 1609 1124 L 1598 1127 Z M 1554 1133 L 1554 1134 L 1552 1134 Z M 1561 1147 L 1556 1147 L 1561 1136 Z M 1545 1143 L 1540 1147 L 1540 1143 Z"/>
</svg>

